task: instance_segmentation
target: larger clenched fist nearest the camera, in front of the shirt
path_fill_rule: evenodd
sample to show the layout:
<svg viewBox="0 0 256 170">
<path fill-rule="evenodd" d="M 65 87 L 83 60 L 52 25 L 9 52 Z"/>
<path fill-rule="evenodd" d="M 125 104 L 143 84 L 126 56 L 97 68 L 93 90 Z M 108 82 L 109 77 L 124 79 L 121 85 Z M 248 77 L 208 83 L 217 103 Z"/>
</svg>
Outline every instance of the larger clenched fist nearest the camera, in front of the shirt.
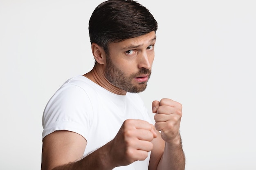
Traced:
<svg viewBox="0 0 256 170">
<path fill-rule="evenodd" d="M 152 124 L 143 120 L 128 119 L 111 141 L 110 155 L 118 166 L 144 160 L 153 149 L 151 141 L 156 137 L 157 133 Z"/>
</svg>

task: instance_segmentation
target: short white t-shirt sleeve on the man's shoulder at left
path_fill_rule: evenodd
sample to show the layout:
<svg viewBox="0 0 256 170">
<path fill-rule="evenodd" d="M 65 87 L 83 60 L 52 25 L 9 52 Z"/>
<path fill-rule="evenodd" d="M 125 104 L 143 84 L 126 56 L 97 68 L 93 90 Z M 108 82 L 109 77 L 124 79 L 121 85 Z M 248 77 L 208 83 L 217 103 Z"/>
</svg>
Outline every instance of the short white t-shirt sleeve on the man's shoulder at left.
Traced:
<svg viewBox="0 0 256 170">
<path fill-rule="evenodd" d="M 47 103 L 43 113 L 43 138 L 56 130 L 88 137 L 92 104 L 79 86 L 63 84 Z"/>
</svg>

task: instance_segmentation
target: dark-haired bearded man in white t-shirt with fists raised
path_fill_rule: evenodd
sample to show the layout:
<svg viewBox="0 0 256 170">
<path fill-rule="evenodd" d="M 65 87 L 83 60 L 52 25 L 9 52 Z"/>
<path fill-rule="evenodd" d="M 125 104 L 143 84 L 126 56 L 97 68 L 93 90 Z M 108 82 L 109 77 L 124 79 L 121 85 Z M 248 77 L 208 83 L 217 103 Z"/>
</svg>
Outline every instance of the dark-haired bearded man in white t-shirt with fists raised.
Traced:
<svg viewBox="0 0 256 170">
<path fill-rule="evenodd" d="M 109 0 L 92 13 L 95 65 L 65 82 L 43 114 L 42 170 L 184 170 L 181 104 L 137 93 L 154 60 L 157 22 L 141 4 Z"/>
</svg>

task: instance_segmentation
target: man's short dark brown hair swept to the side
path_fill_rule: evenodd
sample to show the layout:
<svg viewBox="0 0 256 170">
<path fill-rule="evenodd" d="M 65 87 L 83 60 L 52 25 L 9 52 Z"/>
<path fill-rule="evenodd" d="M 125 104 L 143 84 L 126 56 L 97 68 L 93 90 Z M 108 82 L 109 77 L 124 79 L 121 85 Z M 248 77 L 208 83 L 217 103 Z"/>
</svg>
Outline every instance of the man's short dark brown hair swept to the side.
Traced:
<svg viewBox="0 0 256 170">
<path fill-rule="evenodd" d="M 103 47 L 157 31 L 157 21 L 146 7 L 133 0 L 108 0 L 94 9 L 89 21 L 91 43 Z"/>
</svg>

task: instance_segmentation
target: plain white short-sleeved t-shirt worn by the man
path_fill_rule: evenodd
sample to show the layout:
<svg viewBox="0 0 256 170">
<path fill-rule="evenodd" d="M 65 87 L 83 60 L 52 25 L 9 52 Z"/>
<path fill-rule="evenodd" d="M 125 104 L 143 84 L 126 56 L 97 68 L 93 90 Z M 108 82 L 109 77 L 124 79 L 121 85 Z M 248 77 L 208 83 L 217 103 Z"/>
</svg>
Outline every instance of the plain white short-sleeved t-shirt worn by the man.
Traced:
<svg viewBox="0 0 256 170">
<path fill-rule="evenodd" d="M 52 96 L 43 113 L 43 138 L 56 130 L 76 132 L 87 140 L 84 155 L 111 141 L 126 119 L 150 123 L 148 110 L 135 93 L 116 95 L 78 75 Z M 115 170 L 148 170 L 149 157 Z"/>
</svg>

